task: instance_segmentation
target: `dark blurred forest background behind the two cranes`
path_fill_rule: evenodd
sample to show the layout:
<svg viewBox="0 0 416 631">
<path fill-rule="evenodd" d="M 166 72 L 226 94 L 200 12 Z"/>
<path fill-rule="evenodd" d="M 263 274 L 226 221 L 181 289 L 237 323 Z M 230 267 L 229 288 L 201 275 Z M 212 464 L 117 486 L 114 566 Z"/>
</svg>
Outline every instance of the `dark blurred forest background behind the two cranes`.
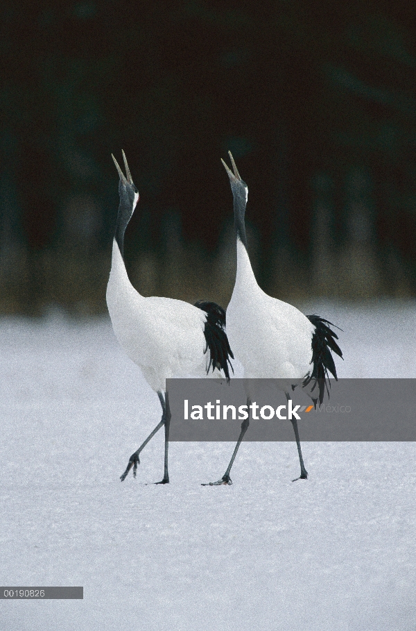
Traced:
<svg viewBox="0 0 416 631">
<path fill-rule="evenodd" d="M 340 0 L 0 8 L 0 312 L 105 311 L 121 149 L 145 295 L 227 305 L 231 149 L 263 289 L 416 294 L 416 11 Z"/>
</svg>

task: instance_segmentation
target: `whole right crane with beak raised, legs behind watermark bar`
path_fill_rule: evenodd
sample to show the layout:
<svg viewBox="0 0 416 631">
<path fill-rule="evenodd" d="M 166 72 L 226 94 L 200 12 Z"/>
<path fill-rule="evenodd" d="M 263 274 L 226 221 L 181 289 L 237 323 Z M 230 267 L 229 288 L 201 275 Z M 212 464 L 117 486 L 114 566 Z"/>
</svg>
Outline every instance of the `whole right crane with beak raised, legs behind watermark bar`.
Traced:
<svg viewBox="0 0 416 631">
<path fill-rule="evenodd" d="M 321 404 L 329 379 L 328 371 L 337 379 L 331 351 L 343 357 L 329 328 L 331 322 L 317 315 L 305 316 L 292 305 L 265 294 L 254 277 L 245 236 L 245 206 L 248 187 L 241 179 L 229 151 L 233 171 L 222 160 L 229 176 L 234 200 L 234 224 L 237 242 L 237 271 L 234 291 L 227 307 L 227 335 L 236 358 L 243 364 L 245 378 L 285 380 L 284 392 L 297 385 L 306 389 L 313 403 Z M 317 387 L 318 386 L 318 387 Z M 318 392 L 315 391 L 317 387 Z M 248 399 L 248 405 L 251 401 Z M 250 407 L 248 407 L 250 410 Z M 291 419 L 300 460 L 300 478 L 308 473 L 304 466 L 296 419 Z M 209 485 L 232 484 L 229 473 L 249 426 L 250 417 L 241 424 L 241 433 L 223 478 Z M 300 478 L 296 478 L 299 480 Z M 295 482 L 295 480 L 293 480 Z"/>
</svg>

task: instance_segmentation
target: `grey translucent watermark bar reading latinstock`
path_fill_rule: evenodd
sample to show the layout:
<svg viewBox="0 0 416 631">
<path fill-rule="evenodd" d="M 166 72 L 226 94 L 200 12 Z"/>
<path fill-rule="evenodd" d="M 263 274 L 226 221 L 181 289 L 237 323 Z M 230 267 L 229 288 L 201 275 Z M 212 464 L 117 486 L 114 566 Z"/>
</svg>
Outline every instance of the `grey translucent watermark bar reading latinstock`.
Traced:
<svg viewBox="0 0 416 631">
<path fill-rule="evenodd" d="M 311 384 L 313 385 L 313 384 Z M 322 405 L 279 379 L 168 379 L 171 441 L 416 441 L 416 379 L 331 379 Z M 310 387 L 309 387 L 310 389 Z M 287 394 L 287 396 L 286 396 Z"/>
</svg>

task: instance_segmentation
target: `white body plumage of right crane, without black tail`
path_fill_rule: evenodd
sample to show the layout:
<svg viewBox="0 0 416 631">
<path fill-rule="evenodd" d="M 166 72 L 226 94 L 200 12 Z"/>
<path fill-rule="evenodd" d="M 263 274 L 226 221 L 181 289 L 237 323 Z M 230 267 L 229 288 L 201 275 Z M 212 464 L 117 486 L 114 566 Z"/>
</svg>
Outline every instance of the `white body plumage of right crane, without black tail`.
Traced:
<svg viewBox="0 0 416 631">
<path fill-rule="evenodd" d="M 315 326 L 298 309 L 265 294 L 237 239 L 236 283 L 227 308 L 227 336 L 247 378 L 296 383 L 311 370 Z"/>
</svg>

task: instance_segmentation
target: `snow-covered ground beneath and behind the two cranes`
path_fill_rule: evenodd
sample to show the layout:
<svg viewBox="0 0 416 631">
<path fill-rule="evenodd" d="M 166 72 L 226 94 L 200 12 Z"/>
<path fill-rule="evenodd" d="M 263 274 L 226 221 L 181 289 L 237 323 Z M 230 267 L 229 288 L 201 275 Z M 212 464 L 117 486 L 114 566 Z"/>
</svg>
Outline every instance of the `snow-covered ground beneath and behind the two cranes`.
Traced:
<svg viewBox="0 0 416 631">
<path fill-rule="evenodd" d="M 309 305 L 339 324 L 343 377 L 416 377 L 415 303 Z M 0 320 L 0 584 L 84 600 L 0 600 L 1 631 L 410 631 L 414 443 L 171 444 L 141 454 L 159 401 L 110 323 Z"/>
</svg>

